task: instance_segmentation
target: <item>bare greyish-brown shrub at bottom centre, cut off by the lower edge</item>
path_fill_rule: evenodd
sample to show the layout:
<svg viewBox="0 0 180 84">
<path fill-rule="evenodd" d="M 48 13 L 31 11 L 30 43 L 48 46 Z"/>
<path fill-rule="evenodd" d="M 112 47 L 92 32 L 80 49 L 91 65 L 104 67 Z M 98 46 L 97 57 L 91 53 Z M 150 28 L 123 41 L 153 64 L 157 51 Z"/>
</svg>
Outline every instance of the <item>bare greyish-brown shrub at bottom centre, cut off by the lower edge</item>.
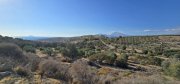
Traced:
<svg viewBox="0 0 180 84">
<path fill-rule="evenodd" d="M 74 84 L 96 84 L 99 80 L 96 71 L 84 59 L 77 60 L 72 64 L 71 74 Z"/>
</svg>

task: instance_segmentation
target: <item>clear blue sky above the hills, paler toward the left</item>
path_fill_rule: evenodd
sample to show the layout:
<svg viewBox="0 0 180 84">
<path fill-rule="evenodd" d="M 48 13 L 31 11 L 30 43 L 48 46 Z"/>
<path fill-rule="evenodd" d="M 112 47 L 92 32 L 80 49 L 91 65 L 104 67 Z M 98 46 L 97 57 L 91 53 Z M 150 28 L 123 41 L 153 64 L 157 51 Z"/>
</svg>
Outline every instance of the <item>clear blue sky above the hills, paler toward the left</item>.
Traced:
<svg viewBox="0 0 180 84">
<path fill-rule="evenodd" d="M 0 0 L 0 34 L 180 33 L 180 0 Z"/>
</svg>

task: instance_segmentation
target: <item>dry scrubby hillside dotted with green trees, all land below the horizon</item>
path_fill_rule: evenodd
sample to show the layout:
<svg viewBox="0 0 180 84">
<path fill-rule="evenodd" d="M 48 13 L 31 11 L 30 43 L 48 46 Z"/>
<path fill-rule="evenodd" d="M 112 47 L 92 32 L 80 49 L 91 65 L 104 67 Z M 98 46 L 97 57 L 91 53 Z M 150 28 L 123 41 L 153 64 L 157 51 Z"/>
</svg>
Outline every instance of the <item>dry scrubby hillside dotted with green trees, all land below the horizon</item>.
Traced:
<svg viewBox="0 0 180 84">
<path fill-rule="evenodd" d="M 0 37 L 1 84 L 179 84 L 180 36 Z M 55 39 L 55 40 L 54 40 Z"/>
</svg>

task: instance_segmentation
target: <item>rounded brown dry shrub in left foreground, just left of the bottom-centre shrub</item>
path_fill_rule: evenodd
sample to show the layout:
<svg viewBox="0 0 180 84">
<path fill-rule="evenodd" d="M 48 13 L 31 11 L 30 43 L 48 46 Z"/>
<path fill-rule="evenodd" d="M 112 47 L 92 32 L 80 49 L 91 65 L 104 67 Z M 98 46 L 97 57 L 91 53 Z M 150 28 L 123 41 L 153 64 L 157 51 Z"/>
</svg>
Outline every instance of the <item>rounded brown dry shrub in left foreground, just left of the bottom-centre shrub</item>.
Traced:
<svg viewBox="0 0 180 84">
<path fill-rule="evenodd" d="M 39 65 L 41 75 L 66 82 L 71 81 L 71 76 L 68 73 L 68 69 L 69 66 L 50 59 L 42 61 Z"/>
</svg>

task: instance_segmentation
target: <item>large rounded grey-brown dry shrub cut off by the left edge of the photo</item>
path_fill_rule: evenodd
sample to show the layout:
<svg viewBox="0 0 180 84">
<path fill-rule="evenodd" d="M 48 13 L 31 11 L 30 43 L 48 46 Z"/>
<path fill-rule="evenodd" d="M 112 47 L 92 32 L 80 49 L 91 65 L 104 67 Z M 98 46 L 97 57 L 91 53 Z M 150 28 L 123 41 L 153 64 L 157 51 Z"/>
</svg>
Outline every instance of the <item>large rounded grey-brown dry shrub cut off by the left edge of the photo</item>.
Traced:
<svg viewBox="0 0 180 84">
<path fill-rule="evenodd" d="M 25 65 L 27 57 L 19 46 L 11 43 L 0 43 L 0 71 L 12 71 L 18 65 Z"/>
</svg>

